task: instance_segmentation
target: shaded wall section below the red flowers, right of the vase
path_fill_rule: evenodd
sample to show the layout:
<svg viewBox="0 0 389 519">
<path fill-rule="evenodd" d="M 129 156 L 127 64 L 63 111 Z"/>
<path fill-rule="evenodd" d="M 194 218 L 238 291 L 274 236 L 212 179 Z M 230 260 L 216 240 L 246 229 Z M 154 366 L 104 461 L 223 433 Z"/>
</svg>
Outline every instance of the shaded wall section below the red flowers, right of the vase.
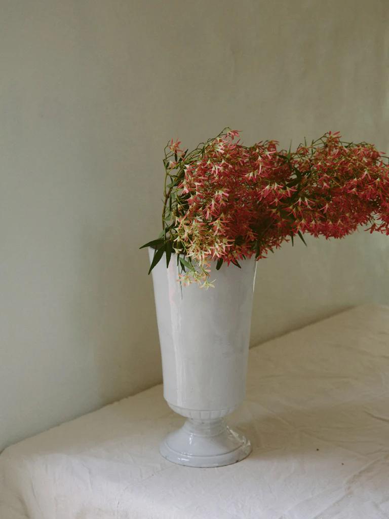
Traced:
<svg viewBox="0 0 389 519">
<path fill-rule="evenodd" d="M 389 304 L 389 237 L 359 229 L 342 240 L 306 237 L 260 260 L 251 344 L 365 304 Z"/>
</svg>

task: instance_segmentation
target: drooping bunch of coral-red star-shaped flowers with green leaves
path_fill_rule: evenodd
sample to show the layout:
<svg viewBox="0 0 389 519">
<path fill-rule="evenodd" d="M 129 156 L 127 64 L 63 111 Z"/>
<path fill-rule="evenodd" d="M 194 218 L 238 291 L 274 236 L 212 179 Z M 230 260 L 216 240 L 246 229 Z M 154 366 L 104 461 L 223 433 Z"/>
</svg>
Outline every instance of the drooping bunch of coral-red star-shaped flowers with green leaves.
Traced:
<svg viewBox="0 0 389 519">
<path fill-rule="evenodd" d="M 229 128 L 189 153 L 171 140 L 162 233 L 143 245 L 155 249 L 149 273 L 174 252 L 179 280 L 207 288 L 211 262 L 240 267 L 296 236 L 343 238 L 360 225 L 389 235 L 389 164 L 374 145 L 344 142 L 339 132 L 294 152 L 278 144 L 244 146 Z"/>
</svg>

